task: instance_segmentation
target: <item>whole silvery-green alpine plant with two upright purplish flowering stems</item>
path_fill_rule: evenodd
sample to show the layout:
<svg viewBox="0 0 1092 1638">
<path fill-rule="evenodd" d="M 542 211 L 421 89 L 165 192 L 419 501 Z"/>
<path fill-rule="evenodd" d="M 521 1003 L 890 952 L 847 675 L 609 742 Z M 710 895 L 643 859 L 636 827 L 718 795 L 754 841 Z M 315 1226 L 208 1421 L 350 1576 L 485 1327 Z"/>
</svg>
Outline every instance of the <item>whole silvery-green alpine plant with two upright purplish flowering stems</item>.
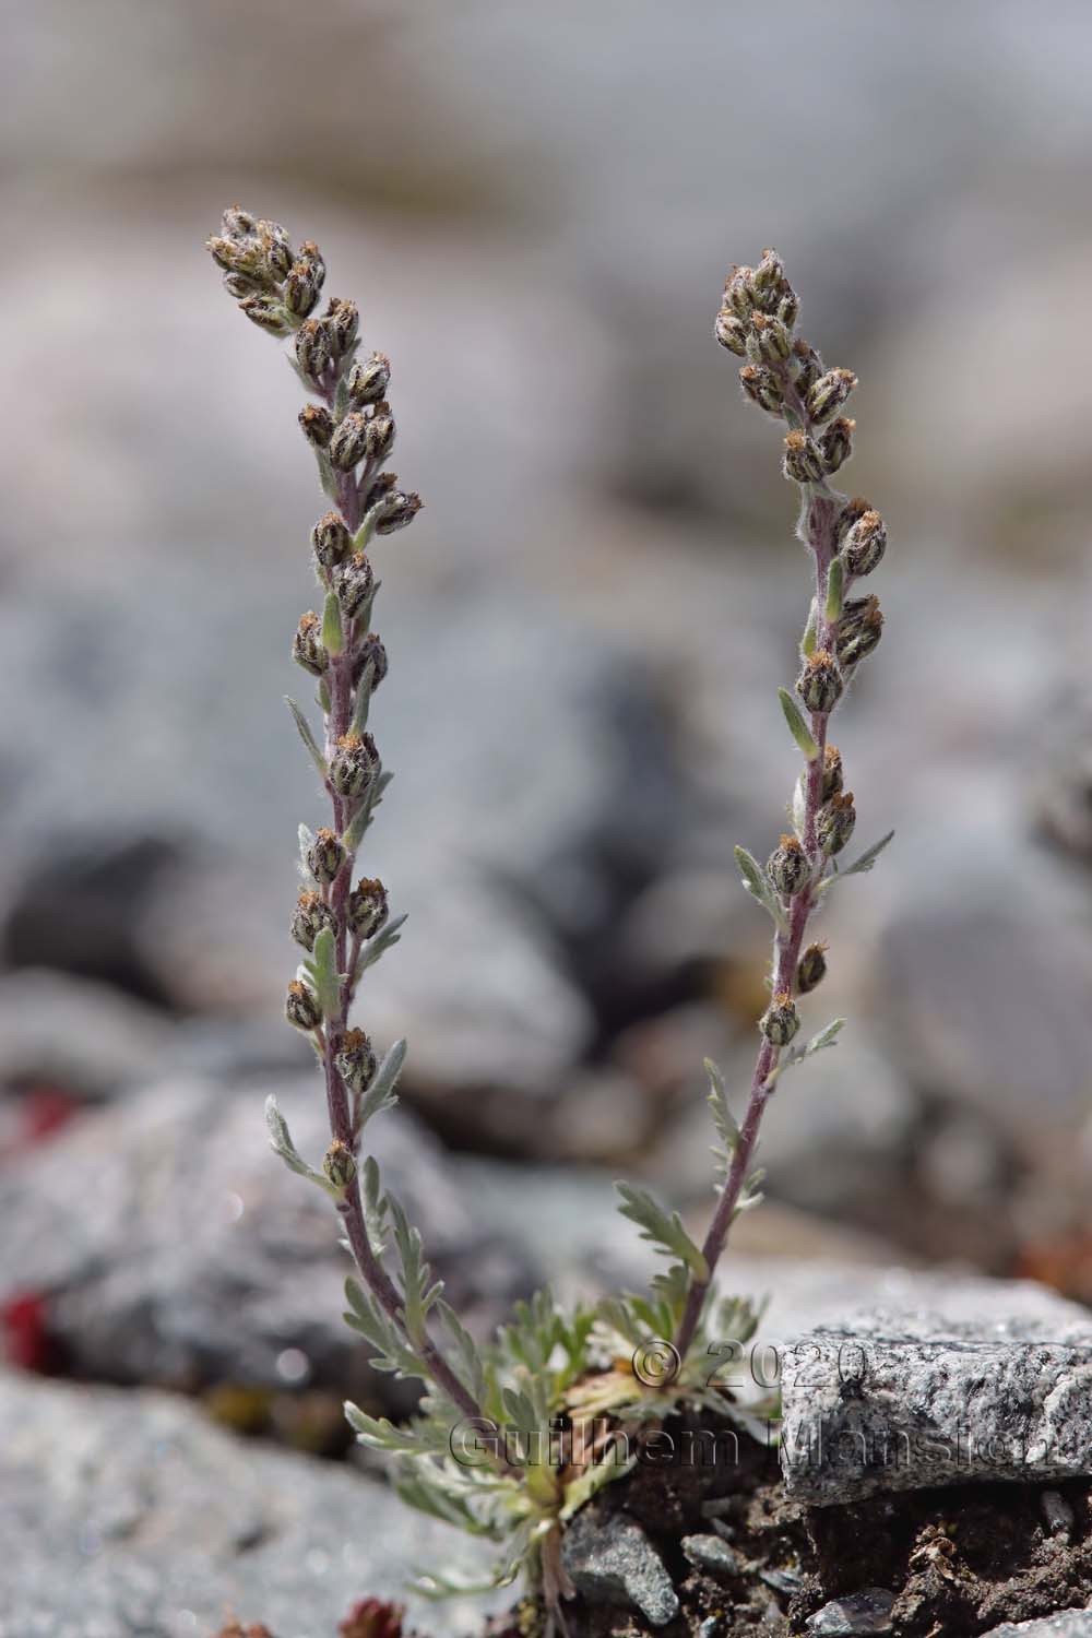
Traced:
<svg viewBox="0 0 1092 1638">
<path fill-rule="evenodd" d="M 486 1584 L 503 1586 L 524 1572 L 550 1633 L 563 1628 L 562 1605 L 573 1594 L 563 1566 L 565 1523 L 637 1459 L 630 1435 L 684 1400 L 747 1425 L 763 1409 L 742 1405 L 719 1381 L 715 1360 L 711 1368 L 711 1351 L 750 1342 L 758 1322 L 745 1301 L 714 1301 L 712 1271 L 732 1219 L 758 1197 L 751 1161 L 779 1075 L 828 1045 L 840 1027 L 840 1020 L 828 1025 L 804 1052 L 791 1047 L 799 1029 L 796 998 L 814 989 L 825 970 L 824 947 L 805 948 L 805 930 L 838 873 L 837 855 L 855 822 L 842 762 L 827 745 L 827 722 L 881 632 L 876 598 L 850 600 L 846 591 L 882 557 L 882 521 L 868 503 L 846 501 L 828 483 L 850 454 L 851 423 L 837 411 L 855 382 L 846 370 L 825 370 L 807 342 L 792 339 L 797 301 L 773 252 L 753 272 L 733 272 L 717 339 L 750 359 L 742 370 L 747 395 L 789 428 L 784 470 L 802 493 L 801 536 L 815 578 L 801 644 L 799 704 L 783 691 L 805 758 L 794 830 L 765 870 L 737 853 L 745 886 L 776 929 L 773 999 L 761 1019 L 742 1125 L 709 1066 L 724 1179 L 712 1227 L 697 1247 L 678 1214 L 643 1189 L 619 1184 L 620 1210 L 670 1258 L 650 1292 L 575 1312 L 562 1310 L 548 1291 L 539 1292 L 480 1346 L 444 1299 L 421 1235 L 368 1148 L 368 1124 L 396 1102 L 406 1043 L 378 1057 L 365 1029 L 350 1019 L 363 976 L 398 942 L 404 922 L 391 917 L 386 886 L 357 868 L 391 778 L 370 727 L 372 699 L 388 673 L 372 624 L 380 588 L 372 554 L 421 508 L 419 496 L 388 470 L 391 367 L 381 352 L 362 355 L 352 301 L 332 298 L 319 313 L 326 267 L 316 244 L 293 249 L 278 223 L 232 208 L 208 249 L 246 316 L 290 341 L 290 362 L 308 396 L 300 428 L 329 506 L 309 539 L 319 608 L 301 616 L 291 640 L 293 658 L 316 685 L 321 734 L 295 701 L 288 706 L 327 814 L 319 829 L 300 826 L 303 889 L 290 929 L 301 960 L 288 984 L 287 1017 L 314 1047 L 331 1140 L 321 1163 L 311 1165 L 272 1099 L 270 1140 L 337 1212 L 355 1265 L 345 1283 L 345 1320 L 365 1338 L 373 1366 L 414 1378 L 424 1389 L 419 1414 L 406 1425 L 347 1405 L 357 1437 L 388 1453 L 408 1502 L 498 1543 Z M 868 868 L 876 852 L 853 868 Z M 416 1586 L 444 1595 L 475 1584 L 429 1566 Z"/>
</svg>

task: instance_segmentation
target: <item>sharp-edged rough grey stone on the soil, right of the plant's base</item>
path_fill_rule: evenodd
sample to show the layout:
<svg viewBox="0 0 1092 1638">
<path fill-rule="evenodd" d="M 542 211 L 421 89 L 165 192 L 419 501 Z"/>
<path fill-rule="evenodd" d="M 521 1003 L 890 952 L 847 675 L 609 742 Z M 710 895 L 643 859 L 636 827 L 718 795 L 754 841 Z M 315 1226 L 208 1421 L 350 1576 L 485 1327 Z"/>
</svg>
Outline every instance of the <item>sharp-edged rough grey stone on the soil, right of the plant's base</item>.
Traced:
<svg viewBox="0 0 1092 1638">
<path fill-rule="evenodd" d="M 1061 1299 L 1020 1312 L 874 1312 L 784 1351 L 781 1468 L 812 1505 L 876 1491 L 1092 1473 L 1092 1320 Z"/>
</svg>

